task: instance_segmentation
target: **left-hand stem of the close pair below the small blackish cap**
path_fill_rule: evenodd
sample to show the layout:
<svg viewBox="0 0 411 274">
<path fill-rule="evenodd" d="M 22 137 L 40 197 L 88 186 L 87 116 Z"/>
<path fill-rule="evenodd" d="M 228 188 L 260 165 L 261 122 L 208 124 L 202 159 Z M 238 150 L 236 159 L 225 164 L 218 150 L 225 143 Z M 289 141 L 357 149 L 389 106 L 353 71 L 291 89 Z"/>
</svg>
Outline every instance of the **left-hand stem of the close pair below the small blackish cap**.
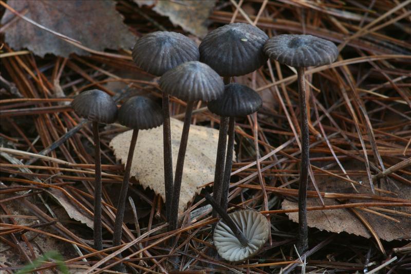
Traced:
<svg viewBox="0 0 411 274">
<path fill-rule="evenodd" d="M 223 195 L 223 179 L 224 179 L 224 166 L 226 158 L 227 148 L 227 128 L 228 128 L 227 116 L 221 116 L 220 118 L 220 130 L 218 134 L 217 144 L 217 157 L 215 160 L 215 173 L 214 173 L 214 186 L 213 196 L 217 204 L 220 204 L 221 197 Z M 217 216 L 217 211 L 213 210 L 213 216 Z"/>
</svg>

